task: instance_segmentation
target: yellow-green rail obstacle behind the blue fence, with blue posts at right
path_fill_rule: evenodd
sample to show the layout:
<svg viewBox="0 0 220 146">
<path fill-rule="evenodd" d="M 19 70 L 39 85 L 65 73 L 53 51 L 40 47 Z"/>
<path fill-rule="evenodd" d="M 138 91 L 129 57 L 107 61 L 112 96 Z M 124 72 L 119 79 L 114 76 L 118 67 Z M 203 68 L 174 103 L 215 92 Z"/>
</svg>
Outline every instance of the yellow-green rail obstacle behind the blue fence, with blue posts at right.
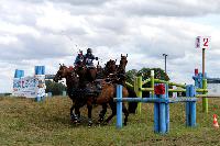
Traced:
<svg viewBox="0 0 220 146">
<path fill-rule="evenodd" d="M 205 77 L 207 75 L 205 74 Z M 195 76 L 193 76 L 193 79 L 195 80 L 195 87 L 196 87 L 196 98 L 204 98 L 202 99 L 202 109 L 204 112 L 208 112 L 208 98 L 211 98 L 210 96 L 208 97 L 208 90 L 207 90 L 207 79 L 202 78 L 202 74 L 198 72 L 198 69 L 195 70 Z M 146 85 L 151 82 L 150 88 L 142 88 L 143 85 Z M 134 79 L 134 85 L 132 86 L 131 83 L 127 82 L 127 86 L 129 88 L 133 88 L 134 91 L 136 92 L 136 96 L 139 98 L 142 98 L 142 92 L 143 91 L 148 91 L 150 92 L 150 98 L 154 98 L 154 85 L 155 83 L 166 83 L 167 88 L 169 86 L 175 86 L 177 89 L 167 89 L 168 92 L 175 93 L 175 92 L 186 92 L 186 85 L 183 83 L 176 83 L 176 82 L 170 82 L 170 81 L 165 81 L 165 80 L 160 80 L 160 79 L 154 79 L 154 70 L 151 70 L 151 78 L 142 81 L 142 77 L 136 77 Z M 213 96 L 212 96 L 213 97 Z M 184 102 L 183 98 L 174 98 L 175 100 L 173 102 Z M 183 101 L 182 101 L 183 99 Z M 189 100 L 189 99 L 188 99 Z M 142 101 L 144 102 L 144 101 Z M 172 100 L 169 99 L 169 102 Z M 141 114 L 141 104 L 138 104 L 138 113 Z"/>
</svg>

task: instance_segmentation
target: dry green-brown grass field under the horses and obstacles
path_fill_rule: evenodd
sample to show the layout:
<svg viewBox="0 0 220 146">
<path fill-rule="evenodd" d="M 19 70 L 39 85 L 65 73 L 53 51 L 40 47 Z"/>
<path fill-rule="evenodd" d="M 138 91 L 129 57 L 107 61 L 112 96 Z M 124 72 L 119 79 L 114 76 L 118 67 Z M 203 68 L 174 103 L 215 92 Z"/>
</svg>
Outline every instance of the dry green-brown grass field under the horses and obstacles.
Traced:
<svg viewBox="0 0 220 146">
<path fill-rule="evenodd" d="M 99 106 L 92 112 L 92 127 L 87 127 L 86 119 L 81 125 L 73 125 L 69 120 L 70 103 L 64 97 L 40 103 L 30 99 L 0 98 L 0 145 L 220 145 L 220 128 L 212 127 L 212 114 L 220 115 L 220 99 L 210 99 L 208 114 L 201 112 L 201 101 L 198 101 L 195 128 L 185 126 L 185 104 L 172 104 L 170 132 L 166 135 L 153 132 L 153 104 L 143 105 L 142 115 L 130 115 L 128 126 L 116 130 L 116 117 L 109 125 L 96 124 Z M 81 114 L 87 116 L 86 108 L 81 109 Z"/>
</svg>

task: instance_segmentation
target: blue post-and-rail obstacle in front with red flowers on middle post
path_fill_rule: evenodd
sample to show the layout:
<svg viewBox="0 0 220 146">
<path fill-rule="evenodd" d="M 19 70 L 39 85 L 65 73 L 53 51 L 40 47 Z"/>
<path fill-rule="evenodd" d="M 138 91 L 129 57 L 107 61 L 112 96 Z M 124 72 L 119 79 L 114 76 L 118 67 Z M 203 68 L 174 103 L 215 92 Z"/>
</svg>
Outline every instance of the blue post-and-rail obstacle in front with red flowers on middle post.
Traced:
<svg viewBox="0 0 220 146">
<path fill-rule="evenodd" d="M 156 85 L 155 89 L 157 89 Z M 163 85 L 165 92 L 155 91 L 154 98 L 122 98 L 122 86 L 117 86 L 117 128 L 122 128 L 122 102 L 142 102 L 154 103 L 154 132 L 169 132 L 169 103 L 186 102 L 186 125 L 196 126 L 196 90 L 194 86 L 186 86 L 187 97 L 185 98 L 168 98 L 168 86 Z M 158 94 L 160 93 L 160 94 Z"/>
</svg>

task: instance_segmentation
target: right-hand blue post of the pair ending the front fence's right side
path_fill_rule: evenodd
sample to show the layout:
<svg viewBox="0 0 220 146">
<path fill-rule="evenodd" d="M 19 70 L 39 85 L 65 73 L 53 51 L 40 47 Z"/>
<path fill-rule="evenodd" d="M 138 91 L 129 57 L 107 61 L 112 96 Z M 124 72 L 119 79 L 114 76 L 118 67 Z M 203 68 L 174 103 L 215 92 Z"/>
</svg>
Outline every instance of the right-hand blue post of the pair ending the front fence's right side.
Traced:
<svg viewBox="0 0 220 146">
<path fill-rule="evenodd" d="M 196 89 L 195 87 L 191 85 L 190 86 L 190 98 L 195 98 L 196 96 Z M 189 109 L 190 113 L 190 126 L 196 126 L 196 101 L 191 101 L 190 102 L 190 109 Z"/>
</svg>

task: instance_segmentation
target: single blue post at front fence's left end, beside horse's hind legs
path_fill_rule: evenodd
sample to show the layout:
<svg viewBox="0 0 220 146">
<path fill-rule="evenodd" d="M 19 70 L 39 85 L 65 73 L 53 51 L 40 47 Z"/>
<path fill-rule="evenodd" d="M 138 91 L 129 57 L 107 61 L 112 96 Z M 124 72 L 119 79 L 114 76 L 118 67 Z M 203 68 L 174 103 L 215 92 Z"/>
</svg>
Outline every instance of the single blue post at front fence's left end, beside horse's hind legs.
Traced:
<svg viewBox="0 0 220 146">
<path fill-rule="evenodd" d="M 122 86 L 117 86 L 117 99 L 122 99 Z M 122 102 L 117 101 L 117 128 L 122 128 Z"/>
</svg>

